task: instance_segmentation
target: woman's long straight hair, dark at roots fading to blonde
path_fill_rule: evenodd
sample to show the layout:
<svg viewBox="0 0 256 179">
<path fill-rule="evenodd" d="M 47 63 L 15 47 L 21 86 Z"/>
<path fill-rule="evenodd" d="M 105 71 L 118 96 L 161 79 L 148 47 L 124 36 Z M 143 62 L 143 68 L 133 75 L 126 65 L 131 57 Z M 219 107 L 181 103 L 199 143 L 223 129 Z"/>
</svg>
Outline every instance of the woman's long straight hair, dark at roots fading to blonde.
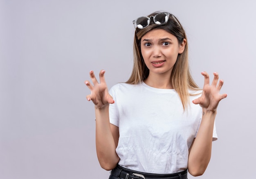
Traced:
<svg viewBox="0 0 256 179">
<path fill-rule="evenodd" d="M 154 12 L 148 15 L 148 17 L 154 16 L 157 13 L 160 12 Z M 199 90 L 199 87 L 193 80 L 189 70 L 188 41 L 186 38 L 186 33 L 180 22 L 172 14 L 169 15 L 169 19 L 166 24 L 157 25 L 153 22 L 153 20 L 151 20 L 149 26 L 146 28 L 136 28 L 133 42 L 133 69 L 132 74 L 126 83 L 141 83 L 141 81 L 144 81 L 148 77 L 149 69 L 147 68 L 142 57 L 140 45 L 141 38 L 153 29 L 163 29 L 168 33 L 171 33 L 177 37 L 179 44 L 181 44 L 183 40 L 186 39 L 184 51 L 181 54 L 178 54 L 177 61 L 174 64 L 173 70 L 171 72 L 171 84 L 175 91 L 179 94 L 183 109 L 185 110 L 189 104 L 189 89 Z"/>
</svg>

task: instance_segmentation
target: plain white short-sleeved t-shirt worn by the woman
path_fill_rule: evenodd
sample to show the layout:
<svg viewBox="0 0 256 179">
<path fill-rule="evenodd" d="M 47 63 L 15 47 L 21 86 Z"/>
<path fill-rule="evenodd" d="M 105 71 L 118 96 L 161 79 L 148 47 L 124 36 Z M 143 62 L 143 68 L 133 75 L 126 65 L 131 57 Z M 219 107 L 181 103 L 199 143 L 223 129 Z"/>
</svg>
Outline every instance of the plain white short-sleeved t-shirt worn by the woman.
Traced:
<svg viewBox="0 0 256 179">
<path fill-rule="evenodd" d="M 192 100 L 201 94 L 190 96 L 187 111 L 174 89 L 158 89 L 144 82 L 119 83 L 110 94 L 115 100 L 109 108 L 110 123 L 119 127 L 116 152 L 120 166 L 158 174 L 187 168 L 189 147 L 202 119 L 202 108 Z"/>
</svg>

